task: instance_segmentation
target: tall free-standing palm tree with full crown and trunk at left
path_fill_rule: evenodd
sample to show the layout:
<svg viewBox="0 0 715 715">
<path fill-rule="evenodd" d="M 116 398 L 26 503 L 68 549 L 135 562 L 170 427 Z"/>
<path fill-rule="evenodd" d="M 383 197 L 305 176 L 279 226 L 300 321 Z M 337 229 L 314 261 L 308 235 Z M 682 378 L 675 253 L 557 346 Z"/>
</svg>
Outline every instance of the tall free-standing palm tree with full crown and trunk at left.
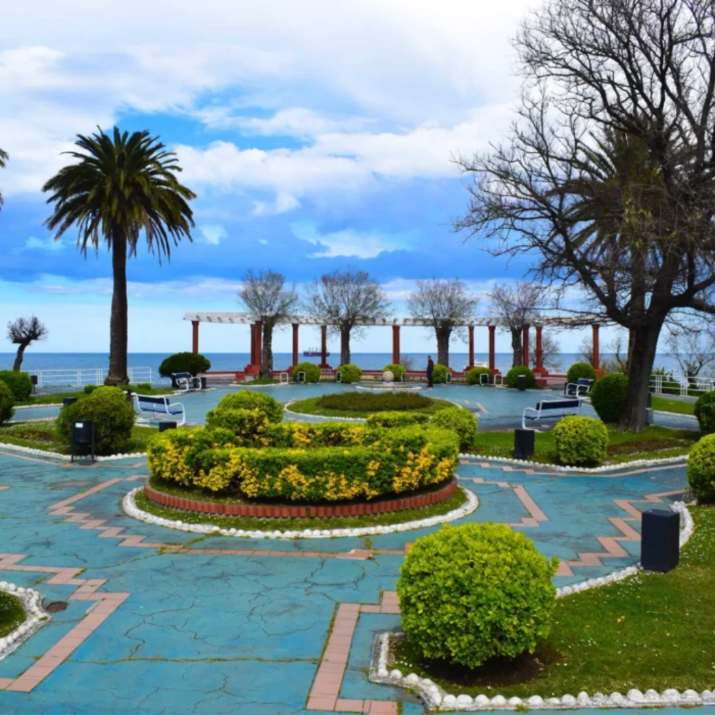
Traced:
<svg viewBox="0 0 715 715">
<path fill-rule="evenodd" d="M 127 378 L 127 254 L 137 255 L 144 234 L 149 250 L 170 257 L 172 243 L 191 239 L 194 226 L 187 201 L 195 194 L 177 180 L 182 169 L 174 152 L 149 132 L 101 129 L 91 137 L 77 136 L 84 151 L 66 152 L 76 162 L 60 169 L 44 185 L 51 192 L 54 213 L 46 221 L 59 239 L 77 225 L 77 245 L 87 256 L 104 240 L 112 251 L 112 321 L 109 341 L 109 375 L 105 384 L 126 385 Z"/>
</svg>

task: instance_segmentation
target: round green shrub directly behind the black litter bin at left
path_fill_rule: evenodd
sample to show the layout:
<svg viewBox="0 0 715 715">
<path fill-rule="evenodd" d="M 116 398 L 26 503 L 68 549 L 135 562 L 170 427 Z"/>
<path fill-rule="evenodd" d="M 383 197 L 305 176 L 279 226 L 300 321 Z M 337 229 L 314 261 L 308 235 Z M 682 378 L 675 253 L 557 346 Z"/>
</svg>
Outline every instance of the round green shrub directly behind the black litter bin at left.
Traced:
<svg viewBox="0 0 715 715">
<path fill-rule="evenodd" d="M 116 454 L 126 450 L 136 417 L 124 390 L 102 387 L 63 407 L 55 427 L 58 437 L 69 444 L 73 423 L 92 420 L 94 450 L 99 455 Z"/>
</svg>

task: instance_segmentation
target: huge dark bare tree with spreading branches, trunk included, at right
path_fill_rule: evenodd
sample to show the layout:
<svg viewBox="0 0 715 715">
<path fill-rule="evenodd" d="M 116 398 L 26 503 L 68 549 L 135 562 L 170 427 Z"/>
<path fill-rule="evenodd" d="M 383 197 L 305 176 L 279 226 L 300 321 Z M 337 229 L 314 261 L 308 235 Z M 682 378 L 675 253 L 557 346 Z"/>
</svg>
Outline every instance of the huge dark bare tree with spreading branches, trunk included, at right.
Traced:
<svg viewBox="0 0 715 715">
<path fill-rule="evenodd" d="M 516 40 L 511 138 L 460 159 L 455 228 L 630 332 L 624 428 L 644 425 L 671 310 L 715 311 L 715 16 L 693 0 L 547 0 Z M 564 305 L 571 307 L 573 305 Z"/>
</svg>

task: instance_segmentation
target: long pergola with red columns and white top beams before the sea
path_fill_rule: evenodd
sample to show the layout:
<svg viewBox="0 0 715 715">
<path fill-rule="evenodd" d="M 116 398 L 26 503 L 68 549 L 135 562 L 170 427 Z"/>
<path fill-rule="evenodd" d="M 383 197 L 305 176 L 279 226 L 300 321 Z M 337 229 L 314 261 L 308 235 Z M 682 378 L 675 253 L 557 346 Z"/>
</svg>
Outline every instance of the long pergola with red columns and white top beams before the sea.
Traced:
<svg viewBox="0 0 715 715">
<path fill-rule="evenodd" d="M 251 327 L 251 361 L 246 366 L 246 373 L 255 374 L 261 364 L 261 349 L 262 349 L 262 329 L 265 317 L 247 312 L 197 312 L 186 313 L 184 320 L 190 320 L 192 323 L 192 350 L 199 352 L 199 323 L 209 322 L 220 325 L 250 325 Z M 293 329 L 293 361 L 292 367 L 300 363 L 300 355 L 298 350 L 298 331 L 301 325 L 316 325 L 320 326 L 320 367 L 330 368 L 327 364 L 327 327 L 329 325 L 338 325 L 338 321 L 328 317 L 314 317 L 308 315 L 285 315 L 276 321 L 280 325 L 292 325 Z M 357 325 L 361 327 L 391 327 L 393 332 L 393 363 L 400 362 L 400 328 L 402 327 L 433 327 L 433 322 L 430 320 L 417 320 L 415 318 L 396 317 L 396 318 L 381 318 L 380 320 L 360 320 Z M 534 322 L 533 327 L 536 329 L 536 365 L 534 372 L 541 376 L 548 375 L 548 371 L 543 367 L 543 350 L 542 350 L 542 330 L 545 325 L 553 325 L 559 327 L 581 327 L 583 325 L 591 325 L 593 328 L 593 367 L 599 369 L 598 365 L 598 329 L 603 325 L 603 321 L 597 317 L 584 317 L 573 315 L 551 315 L 542 318 L 540 322 Z M 497 317 L 470 317 L 464 320 L 459 320 L 455 323 L 455 327 L 466 327 L 469 334 L 469 365 L 471 368 L 474 365 L 474 329 L 475 327 L 486 327 L 489 331 L 489 368 L 496 370 L 495 366 L 495 334 L 497 327 L 506 327 L 506 322 Z M 523 350 L 522 355 L 524 365 L 528 366 L 529 355 L 529 333 L 531 329 L 530 323 L 523 325 Z"/>
</svg>

